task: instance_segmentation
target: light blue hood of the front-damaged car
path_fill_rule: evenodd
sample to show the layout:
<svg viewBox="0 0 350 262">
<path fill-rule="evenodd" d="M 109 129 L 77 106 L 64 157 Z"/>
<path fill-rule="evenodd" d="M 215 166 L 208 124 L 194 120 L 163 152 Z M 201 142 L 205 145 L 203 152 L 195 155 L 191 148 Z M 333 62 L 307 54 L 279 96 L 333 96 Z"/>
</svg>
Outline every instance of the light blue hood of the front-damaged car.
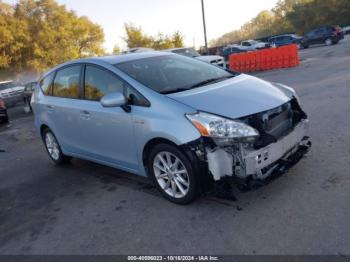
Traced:
<svg viewBox="0 0 350 262">
<path fill-rule="evenodd" d="M 232 119 L 267 111 L 292 99 L 290 90 L 253 76 L 234 78 L 200 88 L 169 94 L 196 110 Z"/>
</svg>

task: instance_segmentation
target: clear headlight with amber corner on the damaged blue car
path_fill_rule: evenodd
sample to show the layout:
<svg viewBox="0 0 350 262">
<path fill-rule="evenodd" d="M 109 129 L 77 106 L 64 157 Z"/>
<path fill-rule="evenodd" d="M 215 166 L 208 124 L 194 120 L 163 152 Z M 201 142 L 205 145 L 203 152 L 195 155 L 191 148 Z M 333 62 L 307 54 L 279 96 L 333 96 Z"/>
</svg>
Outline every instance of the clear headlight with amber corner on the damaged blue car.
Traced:
<svg viewBox="0 0 350 262">
<path fill-rule="evenodd" d="M 213 138 L 218 145 L 252 143 L 259 137 L 257 130 L 240 121 L 202 112 L 188 114 L 186 117 L 202 136 Z"/>
</svg>

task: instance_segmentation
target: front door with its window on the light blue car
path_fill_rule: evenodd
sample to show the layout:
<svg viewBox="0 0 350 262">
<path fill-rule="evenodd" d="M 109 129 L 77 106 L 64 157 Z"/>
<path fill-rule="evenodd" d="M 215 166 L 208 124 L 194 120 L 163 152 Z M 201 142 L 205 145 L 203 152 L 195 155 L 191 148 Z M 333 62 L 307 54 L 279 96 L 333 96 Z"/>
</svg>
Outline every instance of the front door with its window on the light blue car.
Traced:
<svg viewBox="0 0 350 262">
<path fill-rule="evenodd" d="M 126 94 L 129 85 L 113 72 L 97 65 L 87 64 L 84 75 L 78 120 L 82 153 L 93 160 L 130 171 L 137 170 L 132 114 L 121 107 L 105 108 L 100 103 L 107 94 Z"/>
</svg>

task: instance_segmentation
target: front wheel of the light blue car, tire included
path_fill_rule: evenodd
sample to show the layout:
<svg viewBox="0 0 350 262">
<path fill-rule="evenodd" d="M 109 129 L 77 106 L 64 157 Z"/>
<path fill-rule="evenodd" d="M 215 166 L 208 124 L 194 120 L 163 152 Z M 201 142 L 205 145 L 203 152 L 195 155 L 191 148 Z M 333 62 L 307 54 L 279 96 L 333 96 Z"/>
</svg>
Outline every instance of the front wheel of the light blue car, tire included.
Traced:
<svg viewBox="0 0 350 262">
<path fill-rule="evenodd" d="M 198 196 L 199 179 L 195 168 L 176 146 L 159 144 L 153 147 L 147 167 L 154 185 L 169 201 L 186 205 Z"/>
</svg>

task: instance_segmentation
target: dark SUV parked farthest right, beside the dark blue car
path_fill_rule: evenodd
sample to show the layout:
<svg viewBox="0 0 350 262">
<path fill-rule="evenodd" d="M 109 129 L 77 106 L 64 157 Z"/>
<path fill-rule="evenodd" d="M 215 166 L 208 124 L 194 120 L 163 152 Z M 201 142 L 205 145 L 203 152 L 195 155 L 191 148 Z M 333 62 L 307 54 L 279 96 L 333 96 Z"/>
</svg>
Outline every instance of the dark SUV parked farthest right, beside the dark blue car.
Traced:
<svg viewBox="0 0 350 262">
<path fill-rule="evenodd" d="M 339 26 L 324 26 L 307 33 L 301 41 L 301 45 L 304 48 L 316 44 L 329 46 L 338 44 L 341 39 L 344 39 L 344 32 Z"/>
</svg>

